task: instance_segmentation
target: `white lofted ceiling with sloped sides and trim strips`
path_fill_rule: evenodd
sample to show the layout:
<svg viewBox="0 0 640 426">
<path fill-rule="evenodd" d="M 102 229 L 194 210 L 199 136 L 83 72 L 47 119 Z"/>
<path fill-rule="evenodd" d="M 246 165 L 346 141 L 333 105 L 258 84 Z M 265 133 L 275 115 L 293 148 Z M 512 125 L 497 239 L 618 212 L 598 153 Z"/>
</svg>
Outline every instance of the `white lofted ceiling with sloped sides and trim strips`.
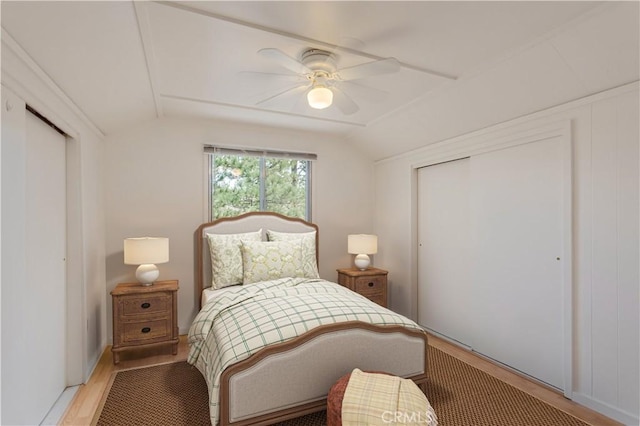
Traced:
<svg viewBox="0 0 640 426">
<path fill-rule="evenodd" d="M 638 2 L 3 1 L 1 18 L 3 37 L 104 134 L 212 118 L 327 132 L 379 159 L 637 81 L 638 13 Z M 359 107 L 344 114 L 287 91 L 291 71 L 263 48 L 401 67 L 343 83 Z"/>
</svg>

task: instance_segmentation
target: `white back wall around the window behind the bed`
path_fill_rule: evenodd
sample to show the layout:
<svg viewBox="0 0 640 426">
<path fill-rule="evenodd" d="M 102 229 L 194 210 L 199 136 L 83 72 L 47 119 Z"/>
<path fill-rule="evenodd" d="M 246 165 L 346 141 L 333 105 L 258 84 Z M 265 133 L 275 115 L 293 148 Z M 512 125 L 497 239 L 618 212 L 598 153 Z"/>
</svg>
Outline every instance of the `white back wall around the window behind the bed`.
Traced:
<svg viewBox="0 0 640 426">
<path fill-rule="evenodd" d="M 123 239 L 169 237 L 170 261 L 160 279 L 178 279 L 178 322 L 186 333 L 194 294 L 194 232 L 206 222 L 204 144 L 312 152 L 312 221 L 320 227 L 320 275 L 336 280 L 350 265 L 347 234 L 371 232 L 372 161 L 329 135 L 205 120 L 159 119 L 106 139 L 106 294 L 135 281 L 124 265 Z M 111 297 L 108 296 L 109 330 Z M 109 332 L 111 337 L 111 331 Z"/>
</svg>

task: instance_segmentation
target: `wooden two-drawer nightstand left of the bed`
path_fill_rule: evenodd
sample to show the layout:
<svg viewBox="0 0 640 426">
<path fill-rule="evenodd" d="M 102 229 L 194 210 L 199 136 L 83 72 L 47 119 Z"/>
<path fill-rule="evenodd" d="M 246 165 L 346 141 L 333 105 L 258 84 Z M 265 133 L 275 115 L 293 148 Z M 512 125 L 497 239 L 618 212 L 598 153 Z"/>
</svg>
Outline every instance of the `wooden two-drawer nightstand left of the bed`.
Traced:
<svg viewBox="0 0 640 426">
<path fill-rule="evenodd" d="M 178 353 L 178 281 L 118 284 L 113 301 L 113 363 L 128 349 L 173 345 Z"/>
</svg>

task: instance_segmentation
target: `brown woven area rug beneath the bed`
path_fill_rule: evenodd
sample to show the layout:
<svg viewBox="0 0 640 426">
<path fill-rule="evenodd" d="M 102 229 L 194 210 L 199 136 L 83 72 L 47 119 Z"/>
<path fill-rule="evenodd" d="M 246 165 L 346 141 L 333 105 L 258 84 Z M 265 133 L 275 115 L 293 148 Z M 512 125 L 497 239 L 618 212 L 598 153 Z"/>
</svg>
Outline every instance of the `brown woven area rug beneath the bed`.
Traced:
<svg viewBox="0 0 640 426">
<path fill-rule="evenodd" d="M 575 417 L 436 348 L 428 349 L 427 398 L 440 426 L 584 426 Z M 209 425 L 207 386 L 186 362 L 114 373 L 93 424 Z M 279 423 L 320 426 L 324 411 Z"/>
</svg>

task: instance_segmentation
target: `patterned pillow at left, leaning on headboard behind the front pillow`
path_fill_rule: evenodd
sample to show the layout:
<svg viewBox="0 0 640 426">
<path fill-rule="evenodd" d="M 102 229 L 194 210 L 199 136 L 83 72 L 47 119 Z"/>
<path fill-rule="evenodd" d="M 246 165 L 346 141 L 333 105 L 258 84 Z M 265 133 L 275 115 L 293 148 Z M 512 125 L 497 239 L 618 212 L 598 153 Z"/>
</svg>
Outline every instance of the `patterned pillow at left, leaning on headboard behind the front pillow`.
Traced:
<svg viewBox="0 0 640 426">
<path fill-rule="evenodd" d="M 215 289 L 242 284 L 243 241 L 262 241 L 262 229 L 243 234 L 207 234 L 211 253 L 211 286 Z"/>
</svg>

